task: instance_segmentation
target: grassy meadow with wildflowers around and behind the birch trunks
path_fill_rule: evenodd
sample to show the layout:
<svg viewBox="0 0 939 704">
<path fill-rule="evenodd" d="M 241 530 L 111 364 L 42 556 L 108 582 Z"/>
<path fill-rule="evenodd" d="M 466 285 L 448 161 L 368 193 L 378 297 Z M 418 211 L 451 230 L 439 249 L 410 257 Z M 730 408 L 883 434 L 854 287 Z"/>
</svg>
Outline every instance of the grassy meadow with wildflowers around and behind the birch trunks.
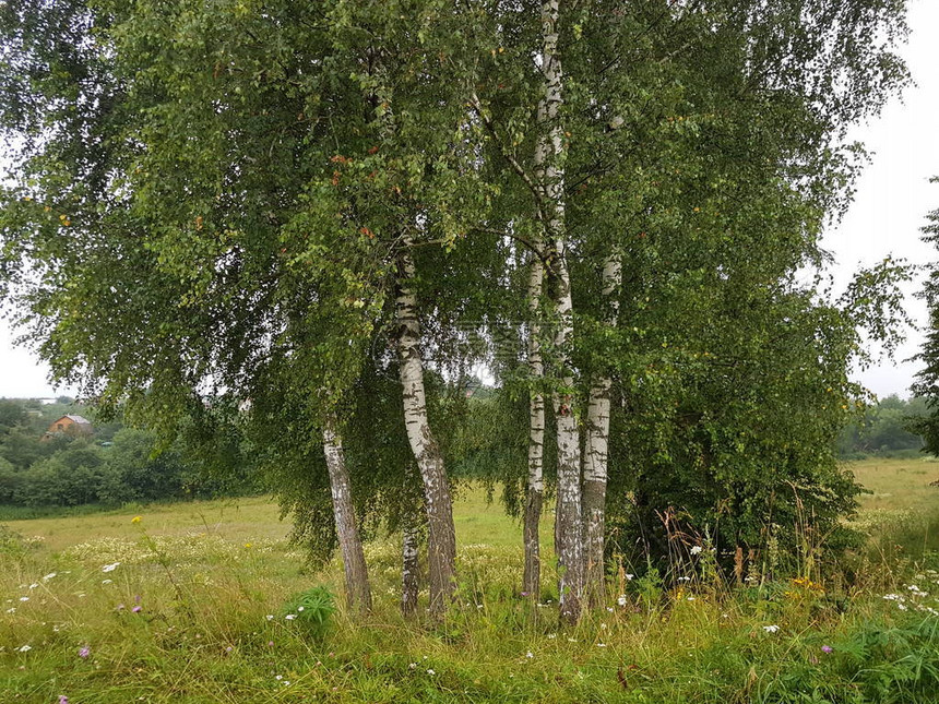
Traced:
<svg viewBox="0 0 939 704">
<path fill-rule="evenodd" d="M 375 542 L 373 614 L 353 623 L 340 609 L 318 630 L 294 597 L 338 592 L 341 568 L 306 569 L 265 500 L 10 522 L 0 701 L 939 702 L 924 517 L 939 465 L 855 468 L 875 491 L 859 521 L 879 547 L 854 559 L 851 583 L 730 589 L 705 553 L 676 565 L 677 587 L 620 570 L 606 607 L 567 631 L 555 575 L 543 605 L 518 595 L 519 528 L 472 490 L 456 508 L 460 598 L 440 624 L 399 617 L 396 546 Z M 905 539 L 925 558 L 905 557 Z"/>
</svg>

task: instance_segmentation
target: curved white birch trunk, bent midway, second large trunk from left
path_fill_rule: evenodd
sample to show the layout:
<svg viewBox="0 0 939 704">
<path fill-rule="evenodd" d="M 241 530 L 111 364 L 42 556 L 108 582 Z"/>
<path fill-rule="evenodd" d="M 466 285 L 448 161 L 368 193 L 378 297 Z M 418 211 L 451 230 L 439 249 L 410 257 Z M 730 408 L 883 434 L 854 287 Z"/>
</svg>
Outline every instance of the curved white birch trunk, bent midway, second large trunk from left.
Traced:
<svg viewBox="0 0 939 704">
<path fill-rule="evenodd" d="M 395 300 L 397 319 L 397 351 L 401 384 L 404 392 L 404 423 L 411 450 L 420 469 L 424 501 L 427 511 L 427 552 L 430 568 L 430 610 L 441 614 L 455 588 L 456 533 L 453 528 L 453 506 L 450 485 L 443 467 L 443 456 L 427 419 L 427 397 L 424 391 L 424 361 L 420 357 L 420 323 L 417 319 L 417 297 L 412 288 L 414 259 L 411 238 L 403 238 L 400 253 L 399 291 Z"/>
</svg>

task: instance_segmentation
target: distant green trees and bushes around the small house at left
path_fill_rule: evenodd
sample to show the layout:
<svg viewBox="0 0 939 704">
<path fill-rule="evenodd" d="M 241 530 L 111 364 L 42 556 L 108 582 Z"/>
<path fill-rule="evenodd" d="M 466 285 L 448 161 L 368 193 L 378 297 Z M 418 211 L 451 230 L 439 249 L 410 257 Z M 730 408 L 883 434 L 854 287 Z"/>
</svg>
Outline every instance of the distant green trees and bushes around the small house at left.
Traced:
<svg viewBox="0 0 939 704">
<path fill-rule="evenodd" d="M 49 423 L 66 414 L 94 418 L 91 409 L 69 398 L 48 405 L 0 399 L 0 504 L 120 505 L 255 489 L 243 456 L 226 463 L 195 450 L 199 444 L 190 450 L 181 443 L 164 446 L 156 433 L 124 427 L 119 419 L 96 422 L 87 437 L 47 434 Z"/>
</svg>

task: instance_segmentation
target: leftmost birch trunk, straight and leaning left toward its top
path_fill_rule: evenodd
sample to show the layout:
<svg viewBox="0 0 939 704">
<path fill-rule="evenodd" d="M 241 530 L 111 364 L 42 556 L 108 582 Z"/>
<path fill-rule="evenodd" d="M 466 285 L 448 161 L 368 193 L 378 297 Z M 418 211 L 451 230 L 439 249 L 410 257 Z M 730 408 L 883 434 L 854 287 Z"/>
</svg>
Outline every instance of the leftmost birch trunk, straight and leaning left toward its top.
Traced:
<svg viewBox="0 0 939 704">
<path fill-rule="evenodd" d="M 368 569 L 358 525 L 356 525 L 343 441 L 336 432 L 335 418 L 330 418 L 323 429 L 323 453 L 326 456 L 326 469 L 333 497 L 333 516 L 345 570 L 346 601 L 350 610 L 365 612 L 371 609 Z"/>
</svg>

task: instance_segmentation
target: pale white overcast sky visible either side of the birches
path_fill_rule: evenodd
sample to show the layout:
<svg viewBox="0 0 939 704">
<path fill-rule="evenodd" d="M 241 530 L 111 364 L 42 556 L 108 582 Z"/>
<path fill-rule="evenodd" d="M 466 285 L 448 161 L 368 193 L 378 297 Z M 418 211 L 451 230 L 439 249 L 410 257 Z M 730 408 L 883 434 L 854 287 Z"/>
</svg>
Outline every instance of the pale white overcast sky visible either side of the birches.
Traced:
<svg viewBox="0 0 939 704">
<path fill-rule="evenodd" d="M 835 281 L 843 284 L 858 265 L 870 265 L 888 254 L 914 263 L 939 259 L 919 240 L 926 214 L 939 208 L 939 0 L 911 0 L 910 43 L 901 49 L 915 86 L 903 99 L 894 99 L 883 115 L 863 126 L 855 138 L 873 153 L 872 162 L 857 183 L 855 202 L 844 220 L 824 238 L 824 247 L 835 258 Z M 920 324 L 926 311 L 907 287 L 907 310 Z M 69 393 L 54 390 L 47 382 L 48 369 L 26 349 L 13 346 L 14 334 L 0 321 L 0 397 L 50 396 Z M 903 360 L 915 355 L 922 333 L 911 330 L 906 344 L 893 360 L 858 372 L 857 378 L 878 395 L 907 395 L 917 366 Z"/>
</svg>

